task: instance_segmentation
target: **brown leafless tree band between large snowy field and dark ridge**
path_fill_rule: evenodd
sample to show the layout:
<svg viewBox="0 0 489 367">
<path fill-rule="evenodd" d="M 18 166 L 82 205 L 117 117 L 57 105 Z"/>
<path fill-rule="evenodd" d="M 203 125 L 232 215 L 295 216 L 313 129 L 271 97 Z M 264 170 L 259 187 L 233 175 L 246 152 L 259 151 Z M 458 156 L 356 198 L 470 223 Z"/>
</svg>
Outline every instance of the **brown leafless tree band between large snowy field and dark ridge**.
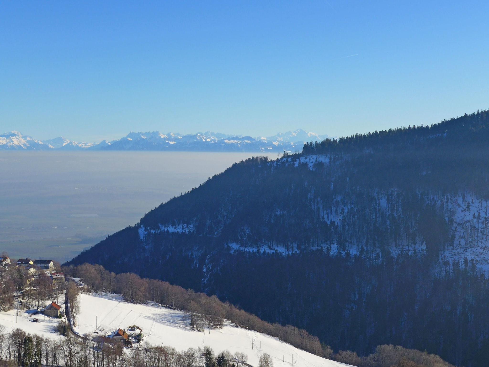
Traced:
<svg viewBox="0 0 489 367">
<path fill-rule="evenodd" d="M 112 275 L 100 265 L 82 264 L 79 266 L 63 267 L 65 274 L 79 277 L 90 290 L 95 292 L 107 291 L 121 294 L 126 300 L 134 303 L 155 301 L 164 306 L 187 311 L 191 322 L 197 329 L 206 325 L 222 327 L 223 320 L 229 320 L 239 327 L 262 332 L 283 340 L 310 353 L 324 356 L 324 348 L 329 353 L 329 347 L 321 345 L 317 337 L 304 329 L 279 323 L 269 323 L 260 320 L 229 302 L 221 302 L 216 296 L 194 292 L 180 286 L 172 285 L 158 279 L 141 278 L 133 273 Z"/>
</svg>

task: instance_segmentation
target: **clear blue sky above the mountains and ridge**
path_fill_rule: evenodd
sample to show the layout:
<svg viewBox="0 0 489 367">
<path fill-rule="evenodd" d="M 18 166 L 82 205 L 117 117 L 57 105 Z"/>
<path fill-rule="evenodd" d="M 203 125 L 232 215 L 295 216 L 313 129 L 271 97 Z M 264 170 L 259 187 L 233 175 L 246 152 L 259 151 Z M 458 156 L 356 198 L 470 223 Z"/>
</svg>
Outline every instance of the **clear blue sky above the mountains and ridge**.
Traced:
<svg viewBox="0 0 489 367">
<path fill-rule="evenodd" d="M 489 107 L 488 1 L 2 1 L 0 130 L 342 136 Z"/>
</svg>

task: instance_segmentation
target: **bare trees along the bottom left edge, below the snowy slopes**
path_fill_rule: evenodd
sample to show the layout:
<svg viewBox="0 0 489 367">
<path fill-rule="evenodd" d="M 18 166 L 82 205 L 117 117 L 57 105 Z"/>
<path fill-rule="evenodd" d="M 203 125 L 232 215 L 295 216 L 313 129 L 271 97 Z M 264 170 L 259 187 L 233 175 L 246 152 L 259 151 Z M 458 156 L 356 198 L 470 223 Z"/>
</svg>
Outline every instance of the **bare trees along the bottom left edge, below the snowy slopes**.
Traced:
<svg viewBox="0 0 489 367">
<path fill-rule="evenodd" d="M 63 322 L 63 321 L 62 321 Z M 0 367 L 243 367 L 244 353 L 225 350 L 215 355 L 210 346 L 190 347 L 178 351 L 172 346 L 150 345 L 124 349 L 120 343 L 107 339 L 46 338 L 28 334 L 21 329 L 5 333 L 0 326 Z M 268 355 L 265 364 L 273 367 Z"/>
</svg>

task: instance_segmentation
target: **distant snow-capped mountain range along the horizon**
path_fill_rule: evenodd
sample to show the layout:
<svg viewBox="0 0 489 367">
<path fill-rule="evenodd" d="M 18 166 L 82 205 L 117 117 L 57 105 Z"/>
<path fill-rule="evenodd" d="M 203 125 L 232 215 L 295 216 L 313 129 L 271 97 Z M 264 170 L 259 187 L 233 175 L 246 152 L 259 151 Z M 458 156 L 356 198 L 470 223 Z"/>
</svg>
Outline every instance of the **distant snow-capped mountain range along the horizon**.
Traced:
<svg viewBox="0 0 489 367">
<path fill-rule="evenodd" d="M 307 141 L 321 141 L 327 135 L 308 133 L 302 129 L 278 133 L 271 137 L 227 135 L 207 131 L 197 134 L 131 132 L 123 138 L 100 143 L 85 143 L 64 137 L 36 140 L 17 131 L 0 135 L 0 150 L 168 150 L 198 152 L 270 152 L 302 150 Z"/>
</svg>

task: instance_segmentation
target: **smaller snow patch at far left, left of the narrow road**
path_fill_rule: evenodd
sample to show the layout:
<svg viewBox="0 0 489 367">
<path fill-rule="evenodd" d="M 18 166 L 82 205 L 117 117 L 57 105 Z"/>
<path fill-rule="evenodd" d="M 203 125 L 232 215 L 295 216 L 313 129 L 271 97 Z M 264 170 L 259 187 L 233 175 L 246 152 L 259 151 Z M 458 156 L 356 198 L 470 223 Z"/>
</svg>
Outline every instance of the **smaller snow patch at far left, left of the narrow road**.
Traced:
<svg viewBox="0 0 489 367">
<path fill-rule="evenodd" d="M 56 302 L 56 299 L 51 299 L 46 302 L 46 305 L 52 301 Z M 65 296 L 60 295 L 58 298 L 61 311 L 65 310 Z M 37 334 L 51 339 L 64 338 L 61 334 L 57 333 L 57 326 L 59 319 L 48 317 L 45 315 L 34 315 L 35 309 L 26 310 L 10 310 L 0 312 L 0 325 L 5 326 L 5 332 L 10 332 L 15 328 L 22 329 L 29 334 Z M 34 319 L 39 319 L 39 322 L 34 322 Z"/>
</svg>

